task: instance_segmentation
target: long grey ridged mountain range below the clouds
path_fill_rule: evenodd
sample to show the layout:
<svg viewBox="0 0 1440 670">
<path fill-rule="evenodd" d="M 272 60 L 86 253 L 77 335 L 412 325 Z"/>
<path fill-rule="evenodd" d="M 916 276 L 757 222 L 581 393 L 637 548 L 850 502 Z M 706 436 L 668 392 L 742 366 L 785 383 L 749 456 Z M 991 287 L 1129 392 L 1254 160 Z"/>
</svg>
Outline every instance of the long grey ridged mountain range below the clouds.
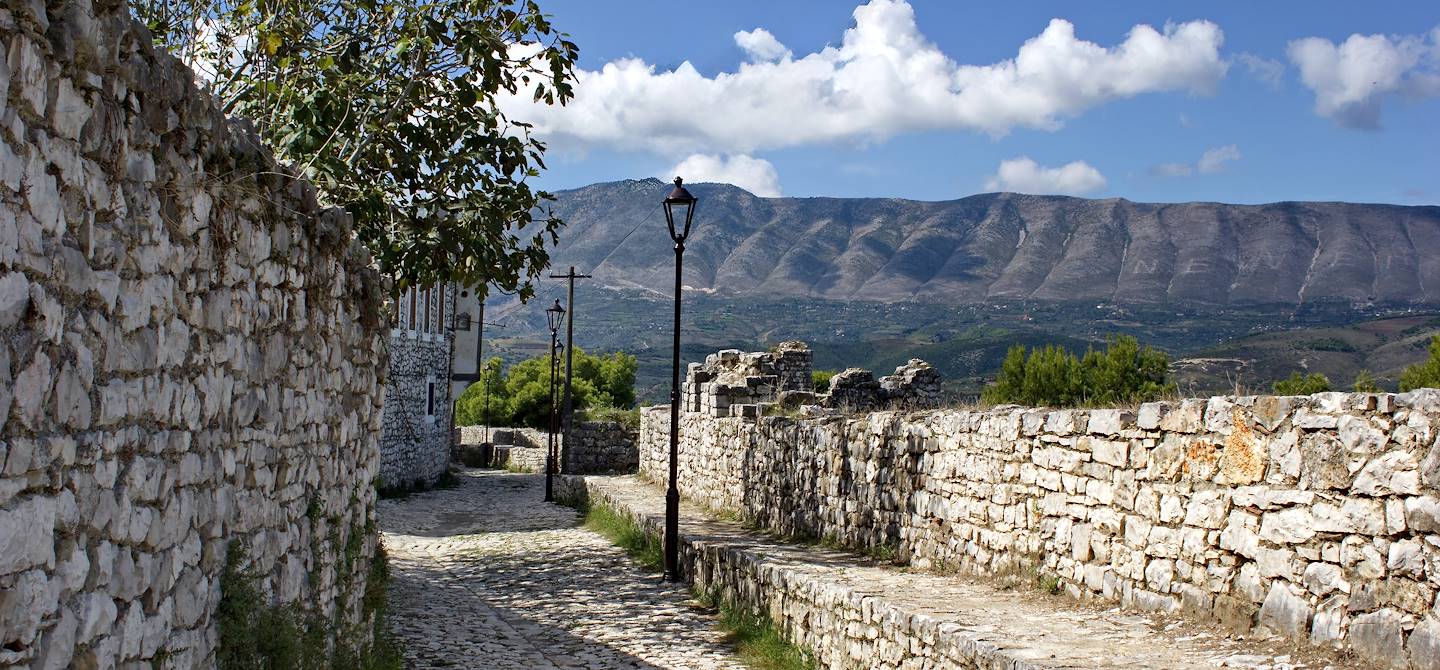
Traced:
<svg viewBox="0 0 1440 670">
<path fill-rule="evenodd" d="M 554 267 L 668 294 L 670 184 L 559 193 Z M 901 301 L 1092 301 L 1210 307 L 1440 304 L 1440 207 L 1151 205 L 989 193 L 946 202 L 700 197 L 685 284 L 720 295 Z"/>
</svg>

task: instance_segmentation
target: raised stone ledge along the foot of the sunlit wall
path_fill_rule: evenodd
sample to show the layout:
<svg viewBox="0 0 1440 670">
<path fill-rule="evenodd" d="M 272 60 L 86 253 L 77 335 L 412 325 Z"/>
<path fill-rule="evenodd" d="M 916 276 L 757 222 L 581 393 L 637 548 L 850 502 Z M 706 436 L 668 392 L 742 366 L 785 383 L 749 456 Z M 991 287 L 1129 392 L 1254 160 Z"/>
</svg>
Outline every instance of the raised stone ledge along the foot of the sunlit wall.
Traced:
<svg viewBox="0 0 1440 670">
<path fill-rule="evenodd" d="M 660 535 L 664 491 L 635 477 L 566 478 Z M 1312 667 L 1331 658 L 1279 641 L 1041 592 L 909 571 L 789 543 L 681 506 L 681 566 L 697 589 L 765 609 L 828 669 Z M 1351 663 L 1345 666 L 1352 667 Z"/>
</svg>

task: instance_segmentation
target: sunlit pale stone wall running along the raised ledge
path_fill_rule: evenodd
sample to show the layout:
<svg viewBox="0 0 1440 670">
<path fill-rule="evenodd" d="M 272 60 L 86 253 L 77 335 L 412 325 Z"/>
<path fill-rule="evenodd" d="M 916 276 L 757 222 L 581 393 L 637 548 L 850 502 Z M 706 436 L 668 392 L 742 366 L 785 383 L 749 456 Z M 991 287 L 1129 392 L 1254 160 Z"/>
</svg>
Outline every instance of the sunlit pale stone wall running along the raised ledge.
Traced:
<svg viewBox="0 0 1440 670">
<path fill-rule="evenodd" d="M 1440 658 L 1440 390 L 681 421 L 681 493 L 782 533 Z M 642 412 L 661 481 L 667 437 Z"/>
</svg>

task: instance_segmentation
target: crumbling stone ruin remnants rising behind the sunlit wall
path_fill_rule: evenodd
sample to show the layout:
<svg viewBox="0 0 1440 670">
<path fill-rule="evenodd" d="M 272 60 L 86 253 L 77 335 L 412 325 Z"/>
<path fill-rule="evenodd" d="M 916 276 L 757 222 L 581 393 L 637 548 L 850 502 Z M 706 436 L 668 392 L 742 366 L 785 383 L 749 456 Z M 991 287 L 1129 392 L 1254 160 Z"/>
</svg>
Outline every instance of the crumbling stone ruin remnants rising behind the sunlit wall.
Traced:
<svg viewBox="0 0 1440 670">
<path fill-rule="evenodd" d="M 940 406 L 940 373 L 910 359 L 878 380 L 858 367 L 837 373 L 828 393 L 811 382 L 814 354 L 804 341 L 782 341 L 770 352 L 726 349 L 690 363 L 681 388 L 681 409 L 710 416 L 760 416 L 779 405 L 802 414 L 933 409 Z"/>
</svg>

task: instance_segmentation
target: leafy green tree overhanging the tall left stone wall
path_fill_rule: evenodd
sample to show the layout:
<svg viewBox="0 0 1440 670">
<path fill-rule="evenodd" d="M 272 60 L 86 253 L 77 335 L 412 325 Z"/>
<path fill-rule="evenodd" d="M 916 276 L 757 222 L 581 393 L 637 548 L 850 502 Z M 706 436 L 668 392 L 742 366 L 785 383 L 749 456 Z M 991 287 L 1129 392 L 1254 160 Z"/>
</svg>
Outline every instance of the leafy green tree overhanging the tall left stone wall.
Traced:
<svg viewBox="0 0 1440 670">
<path fill-rule="evenodd" d="M 572 98 L 579 53 L 531 0 L 132 0 L 228 114 L 348 210 L 396 288 L 528 297 L 562 222 L 507 95 Z"/>
</svg>

